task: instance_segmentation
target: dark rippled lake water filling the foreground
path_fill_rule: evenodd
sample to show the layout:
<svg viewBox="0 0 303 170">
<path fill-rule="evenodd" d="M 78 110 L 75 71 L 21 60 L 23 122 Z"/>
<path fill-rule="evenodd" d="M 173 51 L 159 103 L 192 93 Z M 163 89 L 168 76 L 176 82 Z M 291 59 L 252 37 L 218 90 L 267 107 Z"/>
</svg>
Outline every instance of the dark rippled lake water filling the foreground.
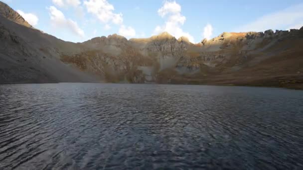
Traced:
<svg viewBox="0 0 303 170">
<path fill-rule="evenodd" d="M 0 170 L 303 169 L 303 91 L 0 85 Z"/>
</svg>

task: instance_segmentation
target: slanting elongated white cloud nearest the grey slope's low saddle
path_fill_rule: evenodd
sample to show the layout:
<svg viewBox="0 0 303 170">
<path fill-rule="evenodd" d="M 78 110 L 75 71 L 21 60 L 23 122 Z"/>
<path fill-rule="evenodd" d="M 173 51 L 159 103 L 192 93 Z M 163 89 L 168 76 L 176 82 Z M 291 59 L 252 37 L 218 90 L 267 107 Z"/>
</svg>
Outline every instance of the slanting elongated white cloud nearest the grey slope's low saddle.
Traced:
<svg viewBox="0 0 303 170">
<path fill-rule="evenodd" d="M 70 30 L 72 33 L 84 37 L 84 31 L 78 26 L 77 22 L 66 19 L 64 14 L 55 6 L 48 8 L 50 14 L 51 24 L 55 28 L 64 28 Z"/>
</svg>

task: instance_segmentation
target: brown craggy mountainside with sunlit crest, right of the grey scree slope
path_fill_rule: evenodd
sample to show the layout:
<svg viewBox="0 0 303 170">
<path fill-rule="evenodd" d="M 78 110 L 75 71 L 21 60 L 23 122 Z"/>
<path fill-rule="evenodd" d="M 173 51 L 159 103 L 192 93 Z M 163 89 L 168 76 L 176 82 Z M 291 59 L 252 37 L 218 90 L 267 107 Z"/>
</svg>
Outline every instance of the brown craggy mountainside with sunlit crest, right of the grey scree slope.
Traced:
<svg viewBox="0 0 303 170">
<path fill-rule="evenodd" d="M 164 32 L 150 38 L 118 35 L 82 43 L 84 59 L 104 61 L 101 75 L 108 81 L 131 83 L 268 85 L 301 87 L 303 78 L 303 28 L 276 32 L 224 32 L 211 40 L 192 44 Z M 92 50 L 95 53 L 92 53 Z M 98 52 L 98 53 L 96 53 Z M 74 56 L 69 56 L 73 58 Z M 85 63 L 93 65 L 92 62 Z M 109 71 L 106 71 L 106 69 Z M 93 69 L 100 74 L 97 69 Z"/>
</svg>

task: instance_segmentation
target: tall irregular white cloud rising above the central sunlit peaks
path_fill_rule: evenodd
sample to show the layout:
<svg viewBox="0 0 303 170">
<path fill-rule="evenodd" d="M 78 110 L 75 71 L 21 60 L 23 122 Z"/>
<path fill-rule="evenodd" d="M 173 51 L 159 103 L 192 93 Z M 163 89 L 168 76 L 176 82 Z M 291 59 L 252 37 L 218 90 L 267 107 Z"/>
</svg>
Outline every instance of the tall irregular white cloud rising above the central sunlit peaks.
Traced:
<svg viewBox="0 0 303 170">
<path fill-rule="evenodd" d="M 188 32 L 184 32 L 180 27 L 184 24 L 186 17 L 181 15 L 181 6 L 175 1 L 165 1 L 163 6 L 158 9 L 161 17 L 168 16 L 166 22 L 162 26 L 156 26 L 154 34 L 168 32 L 176 38 L 185 36 L 190 42 L 194 42 L 194 38 Z"/>
</svg>

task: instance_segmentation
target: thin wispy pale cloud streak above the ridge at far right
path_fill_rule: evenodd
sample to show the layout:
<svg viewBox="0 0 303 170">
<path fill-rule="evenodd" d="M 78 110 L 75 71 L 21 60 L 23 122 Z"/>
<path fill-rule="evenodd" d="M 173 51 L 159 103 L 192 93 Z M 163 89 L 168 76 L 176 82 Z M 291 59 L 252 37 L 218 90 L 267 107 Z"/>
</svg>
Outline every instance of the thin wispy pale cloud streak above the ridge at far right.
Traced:
<svg viewBox="0 0 303 170">
<path fill-rule="evenodd" d="M 303 23 L 303 3 L 257 18 L 235 31 L 265 31 L 268 29 L 287 29 Z"/>
</svg>

